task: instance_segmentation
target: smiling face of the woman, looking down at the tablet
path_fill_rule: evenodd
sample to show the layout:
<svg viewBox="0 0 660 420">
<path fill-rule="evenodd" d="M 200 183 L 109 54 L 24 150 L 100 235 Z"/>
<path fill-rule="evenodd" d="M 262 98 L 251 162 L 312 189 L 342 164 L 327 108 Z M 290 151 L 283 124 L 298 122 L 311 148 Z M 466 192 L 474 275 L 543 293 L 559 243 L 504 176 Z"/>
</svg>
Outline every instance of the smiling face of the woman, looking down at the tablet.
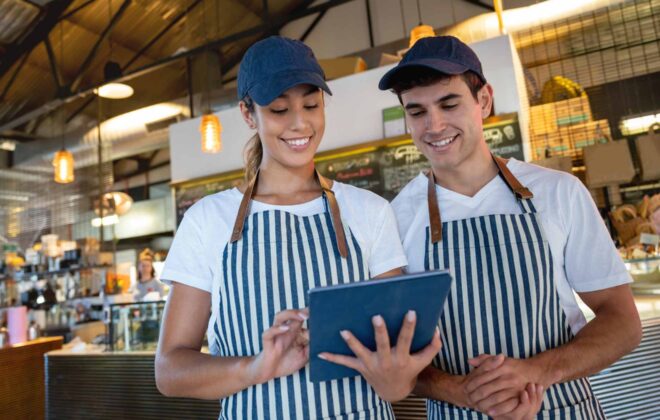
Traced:
<svg viewBox="0 0 660 420">
<path fill-rule="evenodd" d="M 241 102 L 243 118 L 257 129 L 263 147 L 262 166 L 300 168 L 314 165 L 314 154 L 325 131 L 323 93 L 298 85 L 254 112 Z"/>
</svg>

